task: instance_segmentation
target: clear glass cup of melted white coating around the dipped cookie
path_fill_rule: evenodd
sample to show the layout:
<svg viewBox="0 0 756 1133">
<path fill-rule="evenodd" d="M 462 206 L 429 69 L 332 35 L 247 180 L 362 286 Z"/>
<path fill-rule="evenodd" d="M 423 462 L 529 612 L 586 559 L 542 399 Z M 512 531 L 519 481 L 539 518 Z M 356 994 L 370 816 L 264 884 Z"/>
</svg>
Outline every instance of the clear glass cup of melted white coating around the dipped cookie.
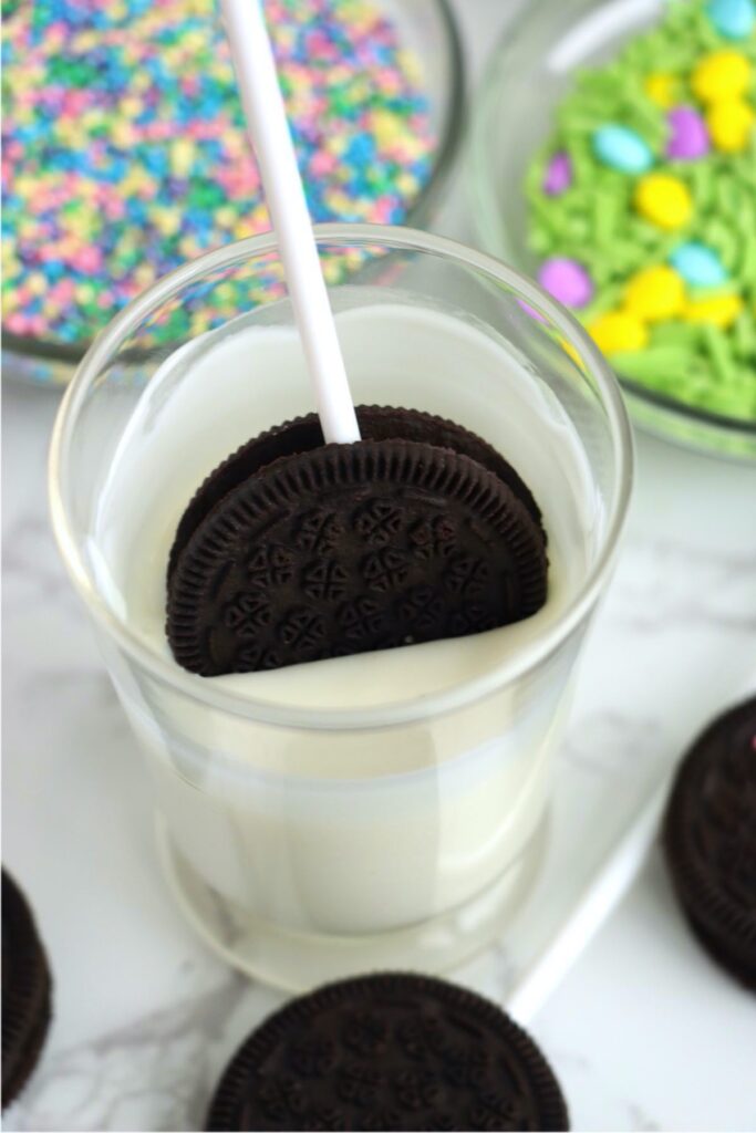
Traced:
<svg viewBox="0 0 756 1133">
<path fill-rule="evenodd" d="M 506 929 L 543 853 L 632 463 L 606 364 L 535 284 L 418 231 L 316 233 L 355 400 L 453 418 L 534 492 L 551 560 L 538 614 L 278 673 L 203 679 L 172 659 L 163 580 L 186 503 L 238 444 L 312 408 L 272 236 L 187 264 L 105 329 L 50 458 L 56 536 L 145 755 L 171 886 L 216 951 L 288 988 L 444 970 Z M 219 315 L 229 275 L 249 304 Z M 170 342 L 179 303 L 197 334 Z"/>
</svg>

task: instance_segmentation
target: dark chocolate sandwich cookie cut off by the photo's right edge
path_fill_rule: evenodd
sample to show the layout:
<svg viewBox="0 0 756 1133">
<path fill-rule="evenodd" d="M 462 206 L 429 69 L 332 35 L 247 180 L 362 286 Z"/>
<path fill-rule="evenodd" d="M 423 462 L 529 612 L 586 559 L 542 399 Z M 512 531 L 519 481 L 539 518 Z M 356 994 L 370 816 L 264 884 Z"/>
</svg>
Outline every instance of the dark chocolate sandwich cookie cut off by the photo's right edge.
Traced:
<svg viewBox="0 0 756 1133">
<path fill-rule="evenodd" d="M 683 759 L 664 850 L 696 936 L 756 990 L 756 698 L 715 719 Z"/>
</svg>

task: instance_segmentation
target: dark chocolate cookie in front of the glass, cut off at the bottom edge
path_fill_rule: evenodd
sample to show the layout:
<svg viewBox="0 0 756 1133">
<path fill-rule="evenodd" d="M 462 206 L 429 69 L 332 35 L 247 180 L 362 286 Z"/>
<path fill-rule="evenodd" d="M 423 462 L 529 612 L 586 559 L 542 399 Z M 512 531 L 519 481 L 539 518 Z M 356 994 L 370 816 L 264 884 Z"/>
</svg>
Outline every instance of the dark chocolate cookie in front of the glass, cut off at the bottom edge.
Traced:
<svg viewBox="0 0 756 1133">
<path fill-rule="evenodd" d="M 241 1046 L 209 1130 L 567 1130 L 541 1051 L 493 1004 L 368 976 L 289 1004 Z"/>
</svg>

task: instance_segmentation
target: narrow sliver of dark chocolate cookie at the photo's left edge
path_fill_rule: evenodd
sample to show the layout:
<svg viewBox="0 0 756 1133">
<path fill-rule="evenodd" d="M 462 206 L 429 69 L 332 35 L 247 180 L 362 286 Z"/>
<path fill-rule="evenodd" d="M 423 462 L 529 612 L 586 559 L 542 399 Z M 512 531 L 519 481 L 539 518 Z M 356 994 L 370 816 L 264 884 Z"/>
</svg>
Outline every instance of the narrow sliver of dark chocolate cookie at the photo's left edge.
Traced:
<svg viewBox="0 0 756 1133">
<path fill-rule="evenodd" d="M 24 895 L 2 871 L 2 1108 L 34 1070 L 51 1017 L 46 956 Z"/>
</svg>

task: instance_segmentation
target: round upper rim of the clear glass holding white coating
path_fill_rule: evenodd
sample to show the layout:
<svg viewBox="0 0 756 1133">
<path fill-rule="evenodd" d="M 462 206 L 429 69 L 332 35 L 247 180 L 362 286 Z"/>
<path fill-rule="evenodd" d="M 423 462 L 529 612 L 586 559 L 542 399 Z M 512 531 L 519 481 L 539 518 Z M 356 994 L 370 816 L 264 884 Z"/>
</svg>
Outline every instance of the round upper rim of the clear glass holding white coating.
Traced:
<svg viewBox="0 0 756 1133">
<path fill-rule="evenodd" d="M 80 542 L 69 521 L 63 494 L 73 432 L 82 406 L 100 370 L 145 316 L 203 274 L 277 252 L 278 242 L 273 232 L 226 245 L 177 267 L 134 299 L 97 334 L 66 390 L 52 431 L 48 465 L 52 529 L 68 574 L 95 622 L 141 668 L 162 684 L 221 712 L 245 718 L 252 717 L 278 726 L 329 731 L 390 727 L 418 722 L 430 715 L 453 712 L 474 704 L 494 689 L 511 684 L 549 657 L 584 620 L 598 598 L 604 579 L 613 564 L 619 536 L 625 525 L 632 480 L 632 434 L 620 387 L 593 340 L 563 307 L 527 276 L 486 253 L 468 248 L 447 237 L 415 229 L 334 223 L 316 224 L 314 230 L 318 245 L 377 244 L 390 250 L 440 256 L 457 266 L 473 269 L 495 283 L 503 283 L 518 298 L 540 308 L 566 341 L 579 349 L 596 383 L 602 408 L 606 414 L 615 466 L 615 486 L 606 530 L 596 561 L 560 616 L 528 647 L 516 650 L 510 657 L 504 657 L 500 664 L 492 666 L 484 674 L 460 681 L 433 696 L 364 708 L 311 708 L 301 705 L 281 705 L 223 690 L 214 685 L 212 680 L 189 673 L 170 658 L 155 653 L 139 634 L 133 632 L 114 614 L 104 600 L 84 561 Z"/>
</svg>

